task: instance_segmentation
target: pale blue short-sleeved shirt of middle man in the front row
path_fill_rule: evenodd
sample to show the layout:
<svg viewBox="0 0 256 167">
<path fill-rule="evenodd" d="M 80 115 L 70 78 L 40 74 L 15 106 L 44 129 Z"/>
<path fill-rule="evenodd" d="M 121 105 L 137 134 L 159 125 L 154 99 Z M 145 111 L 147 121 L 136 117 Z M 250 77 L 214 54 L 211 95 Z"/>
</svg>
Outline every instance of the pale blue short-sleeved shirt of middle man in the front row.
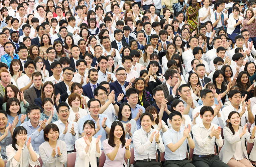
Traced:
<svg viewBox="0 0 256 167">
<path fill-rule="evenodd" d="M 181 144 L 181 146 L 174 152 L 172 152 L 167 145 L 170 143 L 177 143 L 183 137 L 184 129 L 180 128 L 179 131 L 175 131 L 172 127 L 163 133 L 163 143 L 165 147 L 165 160 L 183 160 L 186 158 L 187 152 L 187 139 Z"/>
</svg>

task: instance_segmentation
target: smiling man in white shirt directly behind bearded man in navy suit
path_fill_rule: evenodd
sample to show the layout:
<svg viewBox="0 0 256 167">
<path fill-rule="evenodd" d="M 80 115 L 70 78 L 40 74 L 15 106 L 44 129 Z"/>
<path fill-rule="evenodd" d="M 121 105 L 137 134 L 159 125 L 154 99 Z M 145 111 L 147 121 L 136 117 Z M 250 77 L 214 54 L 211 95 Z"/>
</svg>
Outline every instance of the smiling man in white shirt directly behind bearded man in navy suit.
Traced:
<svg viewBox="0 0 256 167">
<path fill-rule="evenodd" d="M 98 72 L 99 78 L 97 83 L 100 84 L 103 81 L 107 81 L 108 83 L 113 83 L 116 81 L 116 77 L 113 73 L 107 71 L 108 67 L 108 59 L 106 56 L 100 56 L 97 59 L 98 66 L 100 67 L 100 71 Z"/>
</svg>

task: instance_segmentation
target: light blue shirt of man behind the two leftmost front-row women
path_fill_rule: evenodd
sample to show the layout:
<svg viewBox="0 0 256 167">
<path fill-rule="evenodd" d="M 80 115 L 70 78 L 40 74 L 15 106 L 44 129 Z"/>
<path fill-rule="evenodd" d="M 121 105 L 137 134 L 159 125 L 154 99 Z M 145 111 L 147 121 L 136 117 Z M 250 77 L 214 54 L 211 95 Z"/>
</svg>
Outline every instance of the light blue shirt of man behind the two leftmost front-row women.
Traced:
<svg viewBox="0 0 256 167">
<path fill-rule="evenodd" d="M 48 125 L 48 123 L 46 123 Z M 20 126 L 23 126 L 25 129 L 27 129 L 27 141 L 31 137 L 31 144 L 36 151 L 37 154 L 39 154 L 39 146 L 45 142 L 43 138 L 43 130 L 38 132 L 38 128 L 40 127 L 39 124 L 37 125 L 36 128 L 34 128 L 31 125 L 30 119 L 27 122 L 22 123 Z"/>
</svg>

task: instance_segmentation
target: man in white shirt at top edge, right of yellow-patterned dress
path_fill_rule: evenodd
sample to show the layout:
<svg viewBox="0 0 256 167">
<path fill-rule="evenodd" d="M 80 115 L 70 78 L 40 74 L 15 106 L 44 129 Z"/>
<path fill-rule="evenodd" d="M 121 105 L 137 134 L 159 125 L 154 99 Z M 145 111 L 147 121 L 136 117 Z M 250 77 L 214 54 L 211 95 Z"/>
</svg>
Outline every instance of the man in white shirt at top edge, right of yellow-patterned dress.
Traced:
<svg viewBox="0 0 256 167">
<path fill-rule="evenodd" d="M 213 9 L 209 7 L 210 0 L 204 1 L 204 7 L 199 9 L 198 15 L 201 21 L 201 24 L 205 23 L 206 21 L 211 21 L 211 15 L 213 15 Z"/>
</svg>

